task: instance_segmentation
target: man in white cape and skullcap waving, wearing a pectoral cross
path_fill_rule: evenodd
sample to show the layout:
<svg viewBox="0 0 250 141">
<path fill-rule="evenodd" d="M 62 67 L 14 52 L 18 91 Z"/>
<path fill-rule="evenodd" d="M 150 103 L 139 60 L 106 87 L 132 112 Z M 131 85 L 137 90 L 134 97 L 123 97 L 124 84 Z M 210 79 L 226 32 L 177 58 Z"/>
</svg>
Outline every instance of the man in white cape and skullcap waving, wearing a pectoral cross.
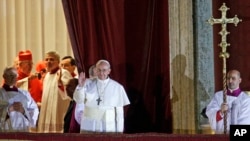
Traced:
<svg viewBox="0 0 250 141">
<path fill-rule="evenodd" d="M 130 104 L 124 87 L 109 78 L 110 64 L 96 63 L 97 78 L 86 79 L 83 72 L 74 93 L 75 117 L 81 132 L 123 132 L 124 106 Z M 83 110 L 84 109 L 84 110 Z"/>
</svg>

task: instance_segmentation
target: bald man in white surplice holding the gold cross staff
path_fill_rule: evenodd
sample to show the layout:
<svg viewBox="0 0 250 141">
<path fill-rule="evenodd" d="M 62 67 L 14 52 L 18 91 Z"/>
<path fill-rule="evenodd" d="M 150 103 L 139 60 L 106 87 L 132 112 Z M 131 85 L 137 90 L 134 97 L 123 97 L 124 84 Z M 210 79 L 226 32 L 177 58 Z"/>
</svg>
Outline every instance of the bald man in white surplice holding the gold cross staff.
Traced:
<svg viewBox="0 0 250 141">
<path fill-rule="evenodd" d="M 217 134 L 224 133 L 224 112 L 227 112 L 227 133 L 230 125 L 250 125 L 250 96 L 241 91 L 240 72 L 227 73 L 227 103 L 223 103 L 223 91 L 214 94 L 206 109 L 210 126 Z"/>
</svg>

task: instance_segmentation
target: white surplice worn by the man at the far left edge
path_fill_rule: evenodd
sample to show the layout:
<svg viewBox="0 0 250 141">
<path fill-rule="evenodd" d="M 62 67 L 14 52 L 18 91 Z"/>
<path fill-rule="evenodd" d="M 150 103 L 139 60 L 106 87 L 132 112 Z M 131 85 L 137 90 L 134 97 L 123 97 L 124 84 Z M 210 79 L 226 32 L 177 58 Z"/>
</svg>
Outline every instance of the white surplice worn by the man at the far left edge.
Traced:
<svg viewBox="0 0 250 141">
<path fill-rule="evenodd" d="M 1 106 L 1 122 L 0 131 L 14 132 L 21 131 L 27 132 L 30 127 L 36 127 L 39 110 L 36 102 L 31 97 L 28 91 L 18 89 L 15 91 L 5 91 L 4 88 L 0 88 L 0 103 Z M 25 110 L 25 114 L 20 112 L 8 111 L 8 107 L 14 102 L 21 102 Z M 5 103 L 5 104 L 3 104 Z M 6 119 L 7 115 L 9 118 Z"/>
</svg>

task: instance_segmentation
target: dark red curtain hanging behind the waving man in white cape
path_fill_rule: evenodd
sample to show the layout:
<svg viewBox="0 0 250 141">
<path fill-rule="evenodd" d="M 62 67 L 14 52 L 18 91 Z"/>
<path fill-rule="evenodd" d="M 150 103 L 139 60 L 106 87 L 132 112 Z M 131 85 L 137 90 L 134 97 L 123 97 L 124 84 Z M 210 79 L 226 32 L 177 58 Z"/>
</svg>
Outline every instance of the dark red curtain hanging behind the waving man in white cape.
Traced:
<svg viewBox="0 0 250 141">
<path fill-rule="evenodd" d="M 171 133 L 168 0 L 62 3 L 78 71 L 107 59 L 127 91 L 125 132 Z"/>
</svg>

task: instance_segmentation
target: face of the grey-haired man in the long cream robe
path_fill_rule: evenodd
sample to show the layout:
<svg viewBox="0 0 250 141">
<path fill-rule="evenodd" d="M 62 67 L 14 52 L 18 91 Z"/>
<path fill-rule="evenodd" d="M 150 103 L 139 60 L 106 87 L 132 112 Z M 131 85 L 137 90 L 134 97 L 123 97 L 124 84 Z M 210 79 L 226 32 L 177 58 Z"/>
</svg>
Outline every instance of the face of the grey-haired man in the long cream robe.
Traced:
<svg viewBox="0 0 250 141">
<path fill-rule="evenodd" d="M 47 71 L 50 72 L 51 70 L 54 70 L 57 67 L 59 67 L 59 60 L 56 59 L 55 56 L 46 55 L 46 57 L 45 57 L 45 65 L 47 67 Z"/>
</svg>

